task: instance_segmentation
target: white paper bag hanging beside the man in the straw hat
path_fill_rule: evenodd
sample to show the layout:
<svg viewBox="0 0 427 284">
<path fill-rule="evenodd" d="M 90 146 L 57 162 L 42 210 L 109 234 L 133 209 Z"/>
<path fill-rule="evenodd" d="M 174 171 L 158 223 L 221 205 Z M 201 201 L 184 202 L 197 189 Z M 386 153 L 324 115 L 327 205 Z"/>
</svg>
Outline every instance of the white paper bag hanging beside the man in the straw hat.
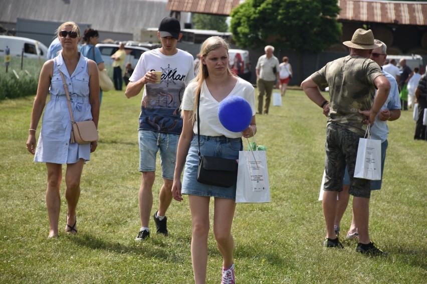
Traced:
<svg viewBox="0 0 427 284">
<path fill-rule="evenodd" d="M 381 179 L 381 140 L 371 139 L 369 128 L 368 124 L 367 138 L 359 138 L 354 177 L 379 180 Z"/>
</svg>

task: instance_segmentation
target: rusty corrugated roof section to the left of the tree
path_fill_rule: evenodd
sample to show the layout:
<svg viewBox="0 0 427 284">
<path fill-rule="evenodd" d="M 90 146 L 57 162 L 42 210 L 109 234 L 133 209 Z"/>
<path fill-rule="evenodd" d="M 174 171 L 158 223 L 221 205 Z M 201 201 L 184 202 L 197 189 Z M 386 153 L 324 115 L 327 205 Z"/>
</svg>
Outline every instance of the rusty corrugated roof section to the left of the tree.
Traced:
<svg viewBox="0 0 427 284">
<path fill-rule="evenodd" d="M 240 0 L 168 0 L 166 9 L 194 13 L 230 15 Z"/>
</svg>

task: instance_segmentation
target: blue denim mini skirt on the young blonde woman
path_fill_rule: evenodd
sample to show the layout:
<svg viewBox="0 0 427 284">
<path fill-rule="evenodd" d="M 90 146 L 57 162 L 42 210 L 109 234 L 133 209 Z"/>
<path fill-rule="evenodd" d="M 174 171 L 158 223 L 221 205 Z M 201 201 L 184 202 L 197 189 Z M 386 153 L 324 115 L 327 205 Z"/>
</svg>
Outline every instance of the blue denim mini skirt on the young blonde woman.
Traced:
<svg viewBox="0 0 427 284">
<path fill-rule="evenodd" d="M 212 196 L 236 200 L 236 182 L 230 187 L 221 187 L 197 181 L 198 139 L 194 134 L 188 149 L 182 178 L 182 194 Z M 200 155 L 238 159 L 243 150 L 242 138 L 200 135 Z"/>
</svg>

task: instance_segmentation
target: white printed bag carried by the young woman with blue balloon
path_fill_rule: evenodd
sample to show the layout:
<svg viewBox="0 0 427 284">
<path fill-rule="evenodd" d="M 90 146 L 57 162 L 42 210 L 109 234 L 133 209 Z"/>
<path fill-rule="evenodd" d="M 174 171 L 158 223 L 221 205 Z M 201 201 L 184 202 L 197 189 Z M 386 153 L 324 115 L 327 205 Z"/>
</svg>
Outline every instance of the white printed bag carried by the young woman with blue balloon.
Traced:
<svg viewBox="0 0 427 284">
<path fill-rule="evenodd" d="M 239 152 L 236 202 L 270 202 L 266 151 Z"/>
</svg>

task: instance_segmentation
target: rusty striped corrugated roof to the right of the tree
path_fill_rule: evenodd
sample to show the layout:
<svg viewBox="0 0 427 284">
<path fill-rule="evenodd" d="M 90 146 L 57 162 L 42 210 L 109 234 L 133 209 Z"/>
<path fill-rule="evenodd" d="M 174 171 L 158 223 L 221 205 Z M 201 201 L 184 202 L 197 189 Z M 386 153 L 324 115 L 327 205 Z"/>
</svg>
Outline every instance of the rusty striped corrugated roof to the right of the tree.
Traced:
<svg viewBox="0 0 427 284">
<path fill-rule="evenodd" d="M 338 0 L 339 20 L 427 25 L 427 2 Z"/>
</svg>

